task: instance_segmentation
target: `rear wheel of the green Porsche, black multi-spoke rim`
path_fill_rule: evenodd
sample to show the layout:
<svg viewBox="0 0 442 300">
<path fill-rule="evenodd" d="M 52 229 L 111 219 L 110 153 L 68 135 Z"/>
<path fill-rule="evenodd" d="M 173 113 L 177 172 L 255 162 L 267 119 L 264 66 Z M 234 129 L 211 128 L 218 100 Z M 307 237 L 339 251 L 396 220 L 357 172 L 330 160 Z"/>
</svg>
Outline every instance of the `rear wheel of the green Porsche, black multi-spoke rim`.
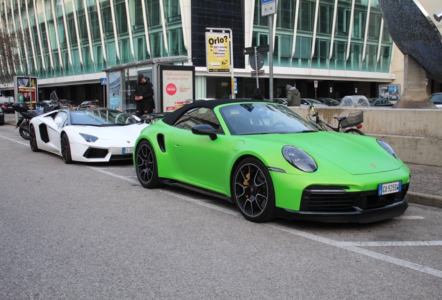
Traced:
<svg viewBox="0 0 442 300">
<path fill-rule="evenodd" d="M 158 164 L 154 147 L 149 141 L 143 140 L 138 144 L 135 163 L 138 181 L 144 188 L 151 189 L 162 186 L 158 178 Z"/>
</svg>

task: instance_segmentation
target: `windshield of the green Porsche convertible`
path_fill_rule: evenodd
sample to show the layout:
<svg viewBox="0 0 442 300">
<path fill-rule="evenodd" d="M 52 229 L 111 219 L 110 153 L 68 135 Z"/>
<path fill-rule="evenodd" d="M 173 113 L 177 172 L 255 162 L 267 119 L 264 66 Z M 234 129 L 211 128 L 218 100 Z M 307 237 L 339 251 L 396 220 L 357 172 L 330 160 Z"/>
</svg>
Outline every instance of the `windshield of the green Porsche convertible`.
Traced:
<svg viewBox="0 0 442 300">
<path fill-rule="evenodd" d="M 223 106 L 220 113 L 232 135 L 318 131 L 286 106 L 243 103 Z"/>
</svg>

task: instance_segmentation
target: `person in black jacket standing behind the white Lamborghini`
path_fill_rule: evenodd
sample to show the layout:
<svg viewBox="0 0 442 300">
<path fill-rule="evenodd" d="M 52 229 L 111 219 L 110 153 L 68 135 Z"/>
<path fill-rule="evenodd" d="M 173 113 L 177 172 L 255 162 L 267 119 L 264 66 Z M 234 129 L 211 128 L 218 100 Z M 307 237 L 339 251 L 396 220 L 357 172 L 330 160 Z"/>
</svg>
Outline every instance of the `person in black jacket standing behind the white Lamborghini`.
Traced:
<svg viewBox="0 0 442 300">
<path fill-rule="evenodd" d="M 138 74 L 138 83 L 135 86 L 136 115 L 138 117 L 152 113 L 155 110 L 154 85 L 149 77 Z"/>
</svg>

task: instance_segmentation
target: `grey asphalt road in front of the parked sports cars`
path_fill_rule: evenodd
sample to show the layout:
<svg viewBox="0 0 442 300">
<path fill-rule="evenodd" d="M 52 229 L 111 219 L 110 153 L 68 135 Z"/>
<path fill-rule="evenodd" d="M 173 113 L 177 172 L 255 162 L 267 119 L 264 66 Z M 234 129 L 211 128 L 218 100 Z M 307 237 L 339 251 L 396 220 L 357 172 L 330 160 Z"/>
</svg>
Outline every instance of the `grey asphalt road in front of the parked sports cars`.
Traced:
<svg viewBox="0 0 442 300">
<path fill-rule="evenodd" d="M 442 299 L 442 209 L 375 224 L 247 222 L 146 190 L 130 163 L 65 165 L 0 126 L 0 299 Z"/>
</svg>

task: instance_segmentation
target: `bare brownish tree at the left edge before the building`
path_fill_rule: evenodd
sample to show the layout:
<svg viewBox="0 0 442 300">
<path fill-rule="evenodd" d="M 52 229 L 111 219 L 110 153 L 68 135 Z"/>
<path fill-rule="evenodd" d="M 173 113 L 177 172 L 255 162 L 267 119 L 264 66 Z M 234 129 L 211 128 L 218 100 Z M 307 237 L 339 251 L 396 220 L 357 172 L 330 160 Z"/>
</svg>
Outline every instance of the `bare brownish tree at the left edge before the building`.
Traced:
<svg viewBox="0 0 442 300">
<path fill-rule="evenodd" d="M 0 28 L 0 83 L 11 83 L 19 75 L 24 35 L 21 30 Z"/>
</svg>

